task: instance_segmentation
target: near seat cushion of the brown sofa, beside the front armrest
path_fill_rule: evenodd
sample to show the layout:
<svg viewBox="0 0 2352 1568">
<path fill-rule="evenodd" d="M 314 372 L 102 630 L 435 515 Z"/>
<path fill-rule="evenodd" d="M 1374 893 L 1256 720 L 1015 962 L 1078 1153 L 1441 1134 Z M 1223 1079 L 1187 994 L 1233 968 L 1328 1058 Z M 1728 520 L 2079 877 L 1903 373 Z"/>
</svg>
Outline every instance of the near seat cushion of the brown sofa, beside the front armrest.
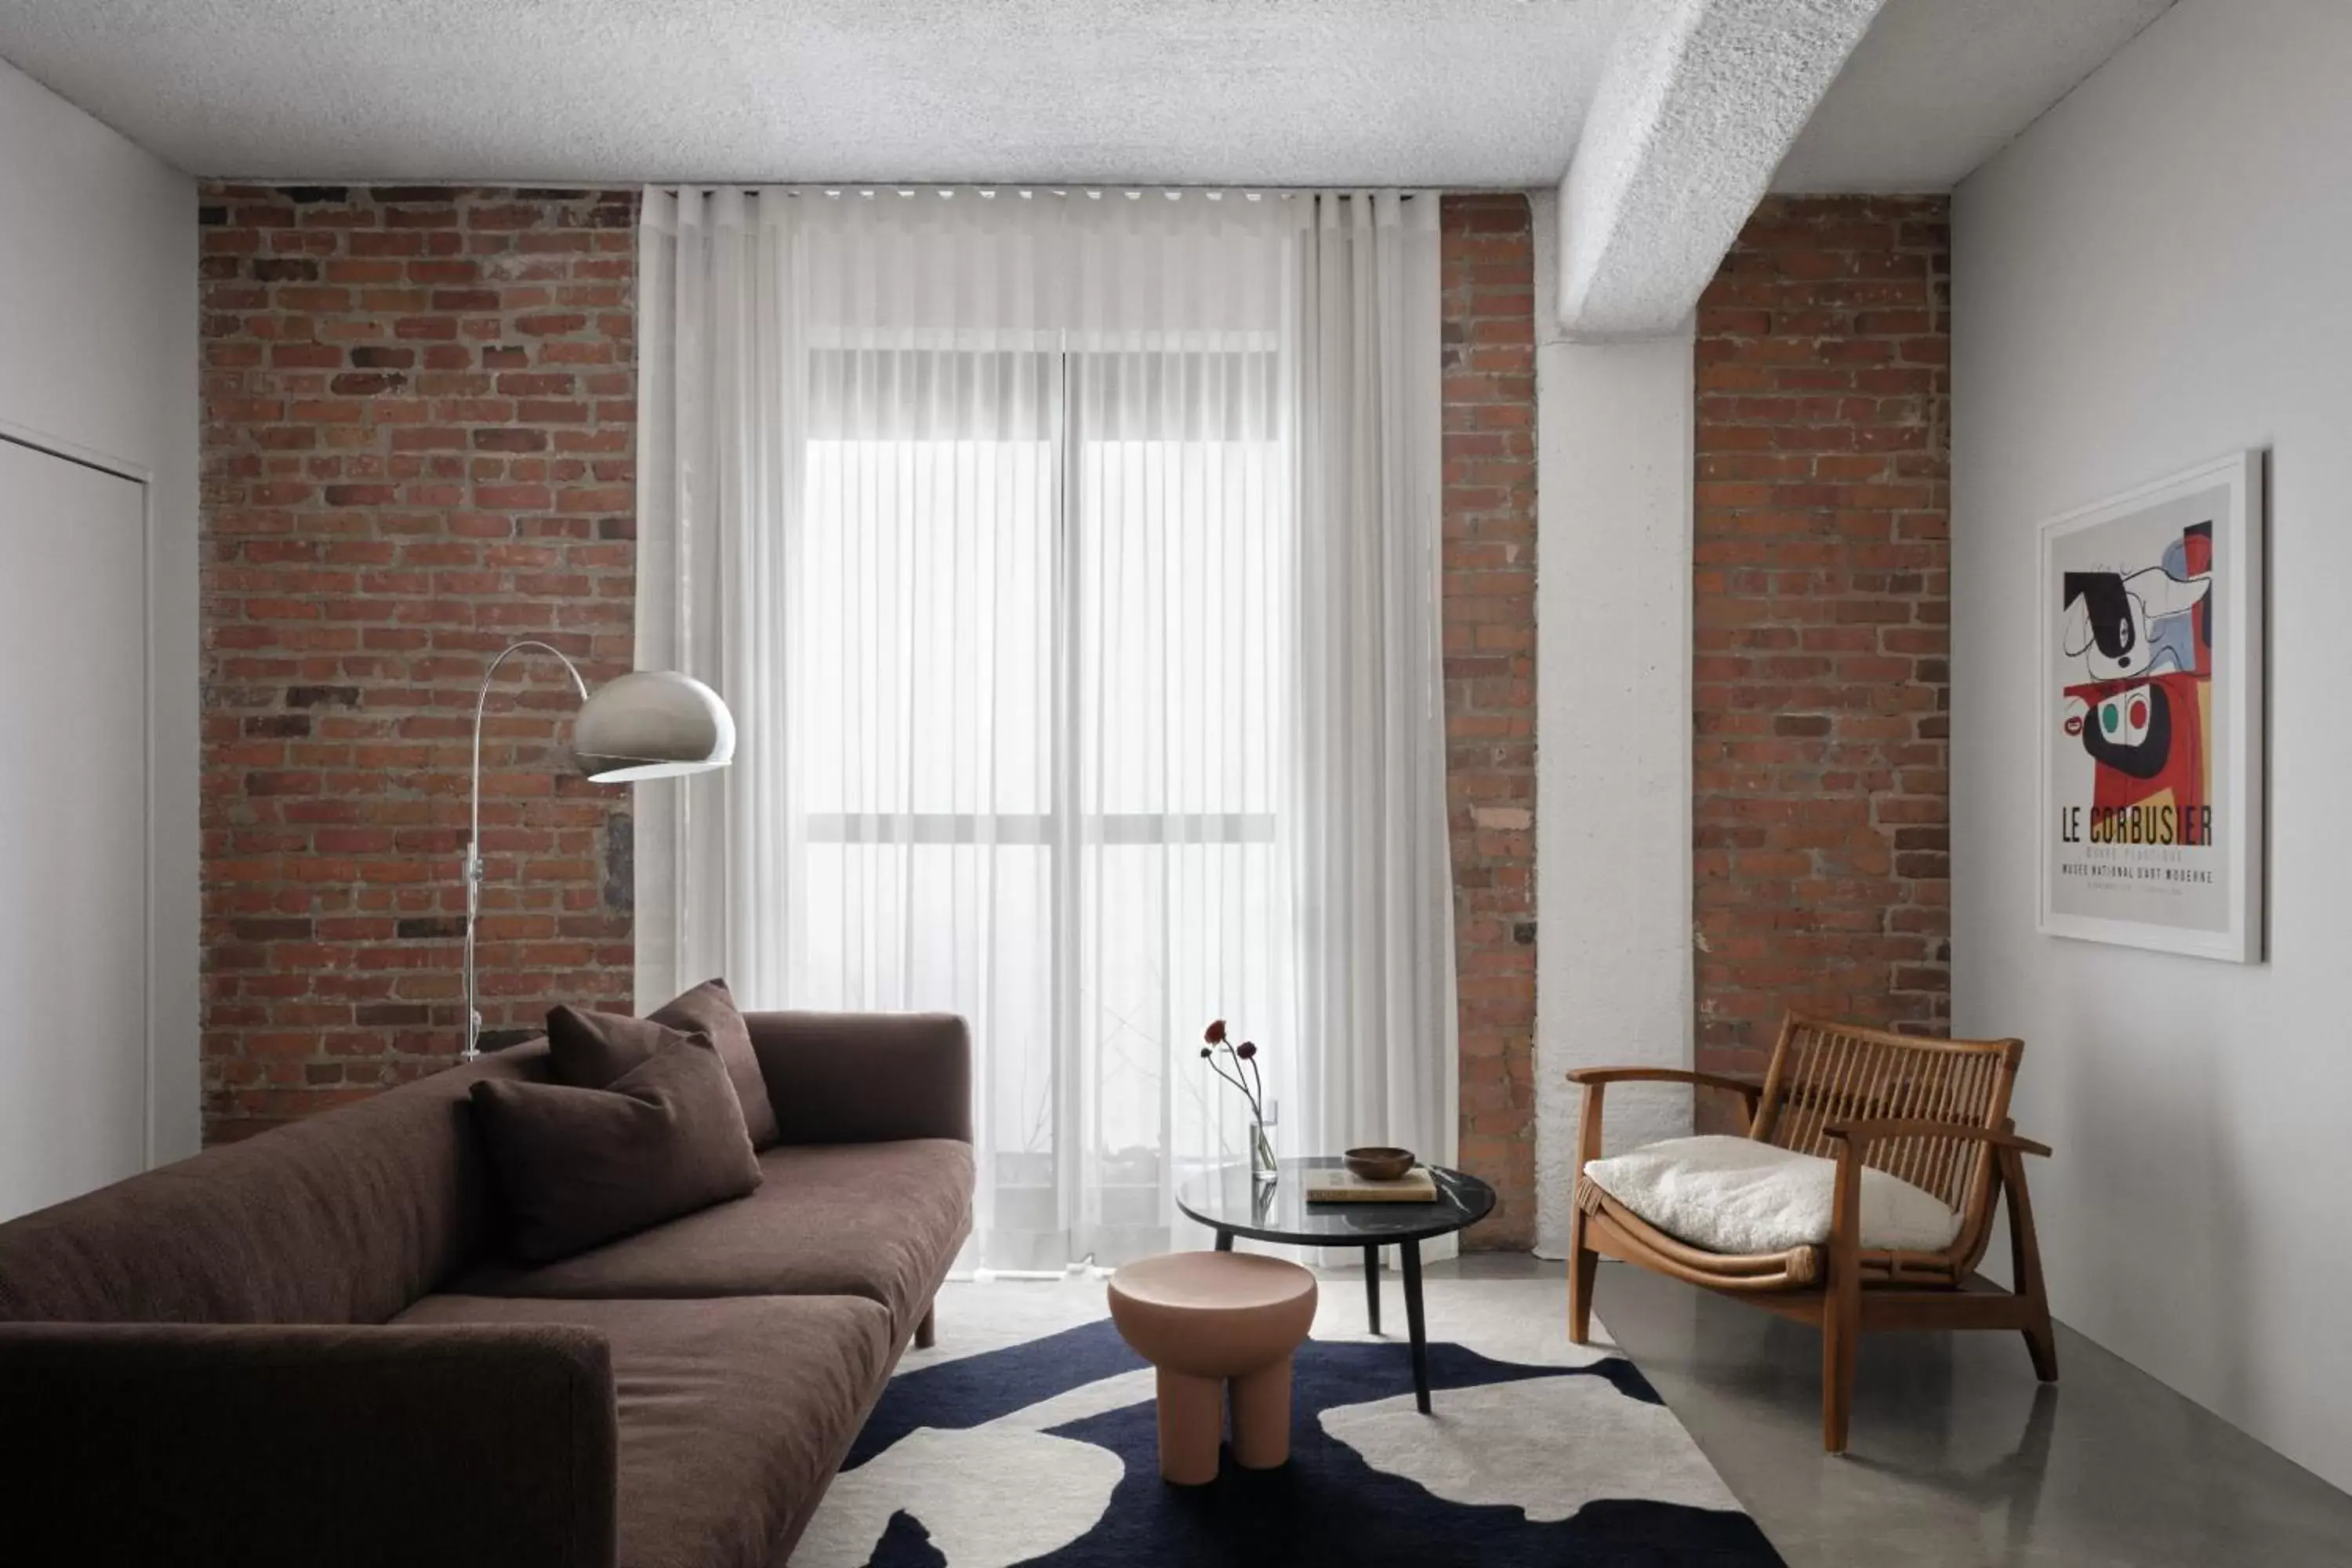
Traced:
<svg viewBox="0 0 2352 1568">
<path fill-rule="evenodd" d="M 837 1295 L 428 1295 L 400 1321 L 579 1324 L 612 1342 L 621 1568 L 781 1563 L 866 1422 L 891 1354 L 882 1309 Z"/>
</svg>

